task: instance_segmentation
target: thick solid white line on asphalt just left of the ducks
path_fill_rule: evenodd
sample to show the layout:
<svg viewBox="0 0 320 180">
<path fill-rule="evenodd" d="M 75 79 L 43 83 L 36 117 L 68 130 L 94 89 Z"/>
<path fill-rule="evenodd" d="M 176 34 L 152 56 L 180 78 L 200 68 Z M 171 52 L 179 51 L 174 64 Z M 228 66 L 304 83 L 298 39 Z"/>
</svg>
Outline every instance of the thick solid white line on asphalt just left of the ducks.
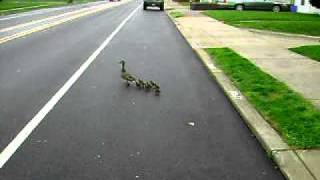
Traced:
<svg viewBox="0 0 320 180">
<path fill-rule="evenodd" d="M 11 158 L 21 144 L 28 138 L 32 131 L 41 123 L 46 115 L 54 108 L 64 94 L 72 87 L 72 85 L 80 78 L 90 64 L 96 59 L 101 51 L 110 43 L 110 41 L 117 35 L 123 26 L 130 20 L 130 18 L 141 7 L 139 5 L 127 16 L 119 26 L 105 39 L 97 50 L 80 66 L 80 68 L 68 79 L 68 81 L 56 92 L 54 96 L 42 107 L 42 109 L 27 123 L 27 125 L 18 133 L 18 135 L 7 145 L 7 147 L 0 154 L 0 168 Z"/>
</svg>

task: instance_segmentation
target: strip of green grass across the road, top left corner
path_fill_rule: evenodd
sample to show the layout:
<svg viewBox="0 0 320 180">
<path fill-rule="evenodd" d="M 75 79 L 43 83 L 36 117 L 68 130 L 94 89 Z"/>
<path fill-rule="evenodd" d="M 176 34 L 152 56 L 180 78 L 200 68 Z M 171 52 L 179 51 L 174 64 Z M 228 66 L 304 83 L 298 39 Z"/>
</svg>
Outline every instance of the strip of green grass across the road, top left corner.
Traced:
<svg viewBox="0 0 320 180">
<path fill-rule="evenodd" d="M 90 2 L 90 0 L 74 0 L 74 3 L 85 2 Z M 0 15 L 29 11 L 40 8 L 63 6 L 67 4 L 67 0 L 2 0 L 0 1 Z"/>
</svg>

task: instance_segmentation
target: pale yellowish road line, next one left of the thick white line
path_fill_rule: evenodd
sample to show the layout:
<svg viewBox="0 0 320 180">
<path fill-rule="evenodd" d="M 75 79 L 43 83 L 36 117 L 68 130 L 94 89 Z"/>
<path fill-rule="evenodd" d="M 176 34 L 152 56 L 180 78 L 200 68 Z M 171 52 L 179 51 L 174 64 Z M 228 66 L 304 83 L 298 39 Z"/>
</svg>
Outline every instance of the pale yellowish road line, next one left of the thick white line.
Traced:
<svg viewBox="0 0 320 180">
<path fill-rule="evenodd" d="M 105 6 L 105 7 L 96 8 L 96 9 L 91 10 L 91 11 L 86 11 L 86 12 L 83 12 L 83 13 L 78 13 L 78 14 L 76 14 L 76 15 L 73 15 L 73 16 L 70 16 L 70 17 L 66 17 L 66 18 L 61 19 L 61 20 L 49 22 L 49 23 L 47 23 L 47 24 L 45 24 L 45 25 L 42 25 L 42 26 L 38 26 L 38 27 L 29 29 L 29 30 L 21 31 L 21 32 L 18 32 L 18 33 L 13 34 L 13 35 L 6 36 L 6 37 L 3 37 L 3 38 L 0 38 L 0 44 L 5 43 L 5 42 L 10 41 L 10 40 L 13 40 L 13 39 L 16 39 L 16 38 L 19 38 L 19 37 L 23 37 L 23 36 L 32 34 L 32 33 L 34 33 L 34 32 L 38 32 L 38 31 L 42 31 L 42 30 L 51 28 L 51 27 L 53 27 L 53 26 L 56 26 L 56 25 L 59 25 L 59 24 L 62 24 L 62 23 L 65 23 L 65 22 L 68 22 L 68 21 L 71 21 L 71 20 L 74 20 L 74 19 L 83 17 L 83 16 L 86 16 L 86 15 L 89 15 L 89 14 L 97 13 L 97 12 L 103 11 L 103 10 L 108 9 L 108 8 L 120 6 L 120 5 L 122 5 L 122 4 L 124 4 L 124 3 L 127 3 L 127 2 L 129 2 L 129 1 L 130 1 L 130 0 L 122 1 L 122 2 L 119 3 L 119 4 L 111 4 L 111 5 L 108 5 L 108 6 Z"/>
</svg>

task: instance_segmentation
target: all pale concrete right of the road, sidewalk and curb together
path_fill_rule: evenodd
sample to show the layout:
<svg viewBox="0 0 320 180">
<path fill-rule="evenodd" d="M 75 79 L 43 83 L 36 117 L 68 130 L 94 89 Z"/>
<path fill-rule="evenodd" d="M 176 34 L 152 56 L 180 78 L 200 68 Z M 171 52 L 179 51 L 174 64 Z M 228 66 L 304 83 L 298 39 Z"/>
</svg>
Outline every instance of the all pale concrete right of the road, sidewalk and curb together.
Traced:
<svg viewBox="0 0 320 180">
<path fill-rule="evenodd" d="M 290 47 L 319 42 L 312 38 L 264 35 L 235 28 L 174 2 L 167 2 L 167 7 L 185 14 L 174 20 L 177 28 L 215 76 L 287 179 L 320 180 L 320 150 L 293 149 L 286 145 L 245 98 L 235 100 L 230 97 L 228 91 L 237 90 L 236 87 L 223 72 L 210 64 L 210 58 L 202 50 L 209 47 L 229 47 L 320 108 L 320 63 L 288 50 Z"/>
</svg>

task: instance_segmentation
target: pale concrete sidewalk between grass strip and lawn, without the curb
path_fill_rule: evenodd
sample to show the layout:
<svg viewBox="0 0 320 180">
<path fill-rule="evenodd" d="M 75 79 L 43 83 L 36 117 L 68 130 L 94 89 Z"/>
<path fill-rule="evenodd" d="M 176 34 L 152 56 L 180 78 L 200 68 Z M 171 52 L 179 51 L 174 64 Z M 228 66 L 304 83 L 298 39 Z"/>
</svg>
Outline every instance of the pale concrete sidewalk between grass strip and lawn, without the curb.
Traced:
<svg viewBox="0 0 320 180">
<path fill-rule="evenodd" d="M 176 4 L 171 4 L 176 7 Z M 186 17 L 176 21 L 192 36 L 194 45 L 233 49 L 320 108 L 320 63 L 288 50 L 319 44 L 318 40 L 254 33 L 178 7 Z"/>
</svg>

